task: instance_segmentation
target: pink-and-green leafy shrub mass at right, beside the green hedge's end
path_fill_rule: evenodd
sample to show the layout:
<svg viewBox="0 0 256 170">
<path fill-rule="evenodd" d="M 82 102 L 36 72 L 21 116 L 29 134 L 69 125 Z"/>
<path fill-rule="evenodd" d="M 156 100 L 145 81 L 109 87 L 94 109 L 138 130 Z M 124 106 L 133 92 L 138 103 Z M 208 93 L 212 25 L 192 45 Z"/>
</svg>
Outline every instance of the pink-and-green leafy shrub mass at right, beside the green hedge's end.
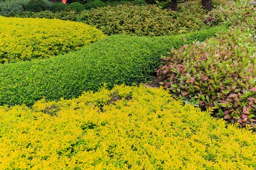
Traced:
<svg viewBox="0 0 256 170">
<path fill-rule="evenodd" d="M 202 109 L 213 107 L 217 117 L 255 127 L 255 31 L 244 26 L 172 49 L 157 71 L 160 84 L 176 99 Z"/>
</svg>

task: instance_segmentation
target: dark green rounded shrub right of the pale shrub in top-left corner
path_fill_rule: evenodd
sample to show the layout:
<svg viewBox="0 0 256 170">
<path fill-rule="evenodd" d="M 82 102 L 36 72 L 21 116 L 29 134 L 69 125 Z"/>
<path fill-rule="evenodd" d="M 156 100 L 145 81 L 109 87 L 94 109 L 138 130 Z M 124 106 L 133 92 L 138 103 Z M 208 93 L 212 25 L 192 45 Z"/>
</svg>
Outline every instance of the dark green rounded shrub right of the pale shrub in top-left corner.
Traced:
<svg viewBox="0 0 256 170">
<path fill-rule="evenodd" d="M 48 0 L 29 0 L 26 4 L 26 11 L 40 12 L 45 10 L 50 10 L 52 3 Z"/>
</svg>

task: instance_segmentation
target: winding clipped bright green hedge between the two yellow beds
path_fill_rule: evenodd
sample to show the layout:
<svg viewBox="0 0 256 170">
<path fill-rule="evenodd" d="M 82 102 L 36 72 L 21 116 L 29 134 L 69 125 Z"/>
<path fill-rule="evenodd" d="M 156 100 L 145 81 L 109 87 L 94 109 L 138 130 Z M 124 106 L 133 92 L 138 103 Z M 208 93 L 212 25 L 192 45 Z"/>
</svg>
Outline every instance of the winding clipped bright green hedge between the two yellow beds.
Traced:
<svg viewBox="0 0 256 170">
<path fill-rule="evenodd" d="M 96 91 L 104 82 L 132 85 L 156 73 L 161 55 L 171 47 L 204 41 L 221 29 L 166 37 L 105 37 L 72 54 L 0 65 L 0 105 L 31 106 L 44 96 L 49 100 L 70 99 L 83 91 Z"/>
</svg>

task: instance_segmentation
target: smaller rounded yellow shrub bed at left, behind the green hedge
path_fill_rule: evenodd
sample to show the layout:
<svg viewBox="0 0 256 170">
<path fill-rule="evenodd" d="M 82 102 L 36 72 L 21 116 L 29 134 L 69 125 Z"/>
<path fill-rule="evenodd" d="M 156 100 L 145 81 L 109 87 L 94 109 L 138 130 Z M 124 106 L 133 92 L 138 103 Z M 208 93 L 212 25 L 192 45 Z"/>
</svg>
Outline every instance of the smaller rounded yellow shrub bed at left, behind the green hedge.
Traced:
<svg viewBox="0 0 256 170">
<path fill-rule="evenodd" d="M 0 63 L 76 51 L 102 36 L 101 31 L 84 23 L 0 16 Z"/>
</svg>

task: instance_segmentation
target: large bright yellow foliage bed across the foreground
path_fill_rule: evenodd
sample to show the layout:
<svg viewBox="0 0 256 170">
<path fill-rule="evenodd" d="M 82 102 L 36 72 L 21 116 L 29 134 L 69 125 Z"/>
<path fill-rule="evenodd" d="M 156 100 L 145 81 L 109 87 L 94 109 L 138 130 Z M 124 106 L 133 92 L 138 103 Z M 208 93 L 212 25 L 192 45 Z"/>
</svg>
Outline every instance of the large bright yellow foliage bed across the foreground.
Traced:
<svg viewBox="0 0 256 170">
<path fill-rule="evenodd" d="M 143 86 L 0 107 L 0 169 L 253 170 L 256 136 Z"/>
</svg>

